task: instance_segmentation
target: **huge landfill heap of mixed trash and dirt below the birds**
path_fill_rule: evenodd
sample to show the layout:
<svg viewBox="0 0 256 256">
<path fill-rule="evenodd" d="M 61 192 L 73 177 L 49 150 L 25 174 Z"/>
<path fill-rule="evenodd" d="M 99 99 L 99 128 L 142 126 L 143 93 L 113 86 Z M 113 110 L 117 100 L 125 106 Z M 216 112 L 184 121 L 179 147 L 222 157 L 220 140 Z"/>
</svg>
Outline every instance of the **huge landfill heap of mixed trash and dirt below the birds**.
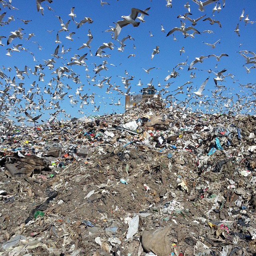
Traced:
<svg viewBox="0 0 256 256">
<path fill-rule="evenodd" d="M 12 126 L 0 255 L 256 255 L 255 116 L 143 103 Z"/>
</svg>

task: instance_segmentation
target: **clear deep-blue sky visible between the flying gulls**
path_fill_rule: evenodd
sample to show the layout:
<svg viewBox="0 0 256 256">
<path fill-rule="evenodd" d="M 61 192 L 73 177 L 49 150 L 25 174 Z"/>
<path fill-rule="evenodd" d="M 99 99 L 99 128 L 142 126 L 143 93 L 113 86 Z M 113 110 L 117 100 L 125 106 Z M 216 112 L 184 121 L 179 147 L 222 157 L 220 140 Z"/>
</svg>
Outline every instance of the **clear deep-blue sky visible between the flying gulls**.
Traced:
<svg viewBox="0 0 256 256">
<path fill-rule="evenodd" d="M 76 14 L 75 20 L 77 22 L 82 20 L 84 17 L 90 17 L 92 18 L 93 23 L 86 23 L 81 28 L 77 29 L 76 24 L 74 24 L 74 22 L 71 20 L 68 29 L 69 32 L 76 32 L 76 34 L 72 36 L 73 41 L 65 38 L 65 36 L 67 36 L 69 32 L 63 31 L 59 33 L 60 41 L 62 42 L 60 44 L 60 51 L 62 44 L 64 45 L 64 49 L 71 48 L 71 50 L 63 56 L 63 58 L 68 61 L 61 59 L 56 60 L 56 63 L 54 64 L 54 70 L 59 66 L 66 65 L 70 61 L 70 58 L 74 56 L 74 54 L 79 54 L 80 56 L 82 56 L 83 54 L 88 53 L 88 60 L 86 60 L 85 62 L 88 65 L 89 72 L 85 71 L 84 66 L 71 67 L 74 72 L 79 74 L 81 84 L 76 84 L 70 79 L 62 79 L 63 84 L 68 84 L 72 88 L 70 90 L 64 88 L 63 92 L 67 92 L 68 94 L 64 96 L 64 99 L 62 101 L 60 101 L 61 109 L 66 110 L 67 114 L 70 113 L 71 116 L 81 116 L 81 113 L 78 112 L 78 110 L 82 110 L 82 112 L 84 112 L 84 114 L 86 115 L 106 114 L 112 113 L 114 111 L 124 111 L 123 95 L 118 95 L 116 91 L 112 91 L 112 93 L 108 95 L 105 93 L 108 85 L 104 85 L 104 87 L 100 89 L 97 86 L 92 85 L 94 84 L 94 82 L 90 82 L 91 85 L 89 85 L 86 80 L 86 74 L 88 74 L 91 78 L 95 75 L 95 72 L 93 72 L 94 66 L 92 63 L 96 63 L 97 65 L 99 65 L 102 64 L 103 60 L 106 60 L 108 62 L 108 64 L 106 64 L 108 70 L 103 70 L 102 72 L 100 72 L 100 75 L 96 76 L 96 81 L 102 80 L 103 77 L 111 76 L 112 78 L 110 80 L 110 83 L 113 85 L 114 83 L 116 85 L 120 85 L 120 89 L 123 91 L 126 91 L 126 89 L 124 89 L 124 85 L 121 83 L 121 78 L 117 76 L 126 76 L 124 73 L 125 70 L 129 73 L 130 76 L 134 76 L 134 80 L 131 81 L 132 88 L 130 92 L 135 93 L 138 93 L 142 89 L 142 87 L 144 87 L 136 85 L 138 84 L 139 79 L 141 79 L 143 84 L 145 85 L 152 78 L 153 84 L 158 90 L 164 88 L 164 85 L 168 82 L 174 82 L 170 85 L 169 88 L 165 88 L 171 93 L 172 90 L 175 90 L 178 86 L 182 86 L 182 84 L 190 80 L 190 73 L 192 71 L 193 73 L 196 73 L 196 78 L 191 80 L 193 82 L 193 84 L 191 84 L 193 85 L 193 90 L 197 90 L 200 84 L 202 84 L 202 82 L 206 80 L 208 76 L 210 76 L 210 79 L 206 84 L 204 91 L 204 94 L 210 97 L 211 91 L 207 90 L 216 89 L 213 81 L 215 75 L 213 73 L 208 74 L 208 72 L 200 70 L 211 69 L 214 71 L 220 71 L 223 68 L 226 68 L 226 74 L 231 73 L 235 75 L 235 80 L 239 81 L 234 84 L 230 77 L 226 77 L 226 82 L 220 82 L 219 84 L 224 85 L 227 88 L 234 88 L 234 90 L 232 91 L 234 96 L 236 96 L 235 93 L 246 93 L 246 90 L 244 90 L 244 92 L 240 92 L 241 88 L 239 87 L 239 83 L 254 83 L 256 81 L 256 69 L 252 69 L 251 72 L 247 74 L 246 69 L 243 67 L 243 65 L 245 64 L 245 60 L 238 53 L 238 51 L 256 50 L 256 42 L 254 40 L 256 23 L 247 24 L 245 26 L 245 23 L 243 21 L 239 22 L 239 16 L 241 15 L 243 8 L 245 8 L 244 16 L 246 14 L 249 14 L 249 19 L 251 21 L 256 21 L 256 2 L 252 0 L 226 0 L 225 7 L 222 8 L 219 13 L 215 12 L 213 16 L 212 8 L 214 7 L 214 4 L 206 6 L 205 12 L 200 12 L 198 10 L 197 4 L 192 2 L 192 0 L 189 0 L 191 9 L 190 12 L 192 13 L 191 18 L 198 18 L 206 14 L 206 17 L 211 17 L 219 20 L 222 24 L 222 28 L 220 28 L 217 24 L 210 25 L 209 21 L 202 21 L 203 19 L 201 19 L 200 21 L 198 21 L 198 24 L 195 26 L 195 28 L 200 32 L 204 30 L 212 30 L 215 32 L 215 34 L 203 33 L 196 34 L 195 38 L 184 38 L 184 35 L 182 35 L 181 32 L 177 31 L 174 32 L 174 35 L 178 40 L 177 42 L 173 40 L 172 35 L 166 37 L 166 34 L 172 28 L 180 27 L 180 18 L 177 18 L 177 16 L 178 14 L 184 14 L 185 12 L 187 12 L 187 9 L 184 8 L 184 4 L 186 4 L 186 2 L 187 0 L 173 0 L 172 8 L 167 8 L 165 0 L 108 0 L 108 3 L 110 5 L 104 6 L 100 5 L 100 0 L 53 0 L 52 4 L 49 4 L 46 1 L 42 3 L 42 6 L 44 7 L 44 16 L 42 16 L 40 12 L 37 12 L 36 10 L 36 0 L 12 0 L 12 5 L 19 10 L 9 10 L 8 8 L 2 8 L 0 14 L 5 11 L 7 12 L 3 21 L 6 21 L 8 17 L 10 17 L 10 15 L 14 15 L 15 21 L 11 21 L 10 24 L 0 27 L 0 36 L 8 37 L 11 31 L 15 31 L 18 28 L 23 28 L 25 33 L 24 38 L 22 40 L 15 38 L 9 46 L 12 47 L 16 44 L 22 44 L 22 47 L 25 47 L 28 49 L 28 51 L 34 53 L 34 56 L 36 60 L 38 60 L 38 62 L 34 62 L 32 55 L 26 51 L 12 52 L 12 57 L 6 56 L 6 49 L 9 46 L 7 46 L 6 44 L 7 38 L 3 38 L 2 43 L 5 45 L 0 46 L 0 69 L 4 71 L 2 65 L 4 65 L 6 68 L 10 66 L 12 68 L 12 71 L 4 71 L 4 73 L 12 79 L 16 75 L 14 66 L 17 66 L 20 70 L 24 70 L 24 66 L 27 65 L 29 68 L 34 70 L 34 66 L 36 64 L 44 64 L 43 60 L 52 58 L 50 54 L 54 52 L 56 46 L 58 45 L 54 41 L 56 40 L 56 34 L 58 30 L 60 30 L 61 28 L 58 18 L 56 18 L 56 16 L 54 15 L 60 16 L 64 23 L 66 23 L 70 19 L 70 16 L 68 16 L 68 14 L 70 14 L 70 8 L 75 7 L 74 13 Z M 220 2 L 222 6 L 222 0 L 218 2 Z M 52 9 L 54 9 L 55 12 L 49 11 L 45 6 L 45 3 L 48 4 Z M 124 52 L 118 52 L 116 46 L 119 47 L 120 44 L 111 38 L 109 32 L 103 31 L 108 29 L 108 26 L 114 26 L 113 22 L 121 20 L 120 16 L 130 14 L 131 8 L 139 8 L 141 10 L 144 10 L 148 7 L 151 8 L 148 11 L 149 16 L 145 17 L 146 22 L 141 22 L 140 26 L 138 26 L 137 28 L 128 25 L 121 30 L 120 35 L 118 36 L 119 40 L 122 40 L 123 37 L 130 35 L 134 38 L 134 41 L 126 40 Z M 24 20 L 32 20 L 32 22 L 29 22 L 27 25 L 25 25 L 23 22 L 18 20 L 18 18 Z M 186 23 L 186 27 L 190 26 L 190 21 L 186 20 L 184 22 Z M 238 37 L 237 34 L 234 32 L 237 23 L 239 23 L 240 37 Z M 164 26 L 166 33 L 161 31 L 161 24 Z M 103 42 L 113 42 L 116 45 L 114 46 L 113 50 L 110 50 L 108 48 L 105 49 L 106 54 L 111 54 L 110 58 L 99 58 L 96 56 L 91 57 L 88 48 L 78 50 L 78 48 L 88 40 L 88 29 L 91 30 L 91 33 L 93 35 L 90 48 L 93 54 L 95 54 L 96 50 L 100 45 L 102 45 Z M 47 32 L 46 30 L 54 31 L 49 34 L 49 32 Z M 152 32 L 154 36 L 150 37 L 149 31 Z M 34 32 L 36 36 L 32 37 L 30 40 L 25 40 L 25 38 L 28 37 L 28 34 L 32 32 Z M 202 41 L 207 43 L 214 43 L 218 39 L 221 39 L 220 44 L 217 44 L 216 48 L 214 49 L 202 43 Z M 32 41 L 38 42 L 38 44 L 42 46 L 42 50 L 39 50 L 38 44 L 35 44 Z M 135 44 L 136 49 L 133 49 L 133 44 Z M 151 53 L 157 45 L 159 45 L 160 53 L 156 54 L 153 60 L 150 60 Z M 182 53 L 180 56 L 179 50 L 182 48 L 182 46 L 185 48 L 185 53 Z M 195 57 L 199 57 L 201 55 L 207 56 L 209 54 L 220 55 L 221 53 L 226 53 L 229 55 L 229 57 L 222 57 L 219 62 L 217 62 L 216 59 L 212 57 L 208 58 L 204 60 L 202 64 L 195 65 L 198 70 L 188 71 L 187 66 L 184 68 L 184 70 L 178 70 L 178 68 L 176 68 L 176 71 L 178 71 L 180 76 L 178 76 L 177 78 L 171 78 L 167 82 L 164 82 L 164 78 L 169 74 L 168 70 L 171 71 L 176 66 L 176 64 L 178 64 L 179 62 L 184 62 L 187 57 L 187 63 L 190 64 Z M 135 57 L 128 58 L 129 54 L 135 54 Z M 120 63 L 122 64 L 119 65 Z M 218 66 L 217 68 L 215 68 L 217 63 Z M 110 64 L 114 64 L 115 66 L 112 66 Z M 250 67 L 252 66 L 252 64 L 247 66 Z M 156 67 L 159 69 L 155 68 L 151 70 L 149 74 L 142 70 L 142 68 L 148 69 L 150 67 Z M 26 77 L 24 80 L 19 80 L 16 77 L 16 83 L 24 83 L 25 90 L 29 90 L 29 88 L 31 88 L 30 84 L 34 80 L 36 80 L 36 84 L 38 84 L 38 86 L 42 88 L 42 95 L 43 98 L 47 100 L 47 105 L 50 101 L 50 97 L 49 95 L 45 95 L 43 91 L 45 86 L 46 88 L 48 88 L 47 84 L 49 80 L 53 77 L 56 77 L 56 74 L 50 74 L 54 70 L 48 70 L 48 67 L 44 67 L 44 70 L 42 70 L 42 72 L 44 72 L 45 74 L 45 82 L 38 82 L 38 76 L 30 74 L 29 78 Z M 4 80 L 2 80 L 2 82 L 3 85 L 1 86 L 1 88 L 5 86 Z M 162 87 L 157 86 L 158 82 L 160 82 Z M 82 92 L 82 94 L 87 93 L 88 95 L 90 95 L 92 94 L 92 92 L 95 92 L 96 95 L 94 101 L 96 106 L 100 105 L 99 112 L 92 112 L 92 110 L 94 110 L 94 104 L 90 103 L 88 105 L 85 105 L 83 109 L 79 108 L 80 100 L 76 106 L 70 105 L 68 95 L 74 95 L 75 97 L 76 88 L 78 88 L 82 84 L 84 84 L 84 91 Z M 54 92 L 54 90 L 52 89 L 51 91 Z M 186 98 L 186 86 L 184 87 L 183 91 L 185 93 L 178 94 L 176 96 L 177 99 L 184 100 Z M 223 92 L 223 94 L 224 93 L 228 92 Z M 167 96 L 168 94 L 165 94 L 165 96 Z M 38 96 L 36 95 L 36 97 Z M 111 103 L 111 98 L 108 97 L 112 98 L 113 103 L 118 102 L 118 98 L 120 98 L 122 104 L 120 106 L 109 105 L 109 103 Z M 105 102 L 106 106 L 102 102 L 102 100 Z M 23 102 L 24 99 L 21 102 L 22 107 L 24 107 Z M 51 113 L 54 112 L 54 110 L 44 111 L 44 116 L 42 117 L 42 119 L 47 120 L 49 118 L 49 114 L 47 114 L 47 112 Z M 20 114 L 18 113 L 17 115 Z"/>
</svg>

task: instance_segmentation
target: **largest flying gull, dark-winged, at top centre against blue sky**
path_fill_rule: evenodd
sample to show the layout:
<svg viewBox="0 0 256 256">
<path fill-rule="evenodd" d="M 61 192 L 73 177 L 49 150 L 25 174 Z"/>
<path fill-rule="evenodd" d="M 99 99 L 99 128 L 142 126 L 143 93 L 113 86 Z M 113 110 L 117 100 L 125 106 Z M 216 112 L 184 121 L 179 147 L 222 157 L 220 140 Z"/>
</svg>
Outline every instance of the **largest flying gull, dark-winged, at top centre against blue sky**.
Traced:
<svg viewBox="0 0 256 256">
<path fill-rule="evenodd" d="M 115 40 L 117 39 L 118 35 L 120 34 L 122 27 L 127 26 L 128 24 L 132 24 L 132 26 L 134 26 L 134 27 L 138 27 L 140 25 L 140 22 L 135 21 L 135 19 L 137 18 L 139 13 L 149 15 L 148 13 L 146 13 L 140 9 L 132 8 L 129 16 L 124 16 L 124 15 L 121 16 L 121 18 L 123 18 L 124 20 L 118 20 L 118 22 L 116 22 Z"/>
</svg>

